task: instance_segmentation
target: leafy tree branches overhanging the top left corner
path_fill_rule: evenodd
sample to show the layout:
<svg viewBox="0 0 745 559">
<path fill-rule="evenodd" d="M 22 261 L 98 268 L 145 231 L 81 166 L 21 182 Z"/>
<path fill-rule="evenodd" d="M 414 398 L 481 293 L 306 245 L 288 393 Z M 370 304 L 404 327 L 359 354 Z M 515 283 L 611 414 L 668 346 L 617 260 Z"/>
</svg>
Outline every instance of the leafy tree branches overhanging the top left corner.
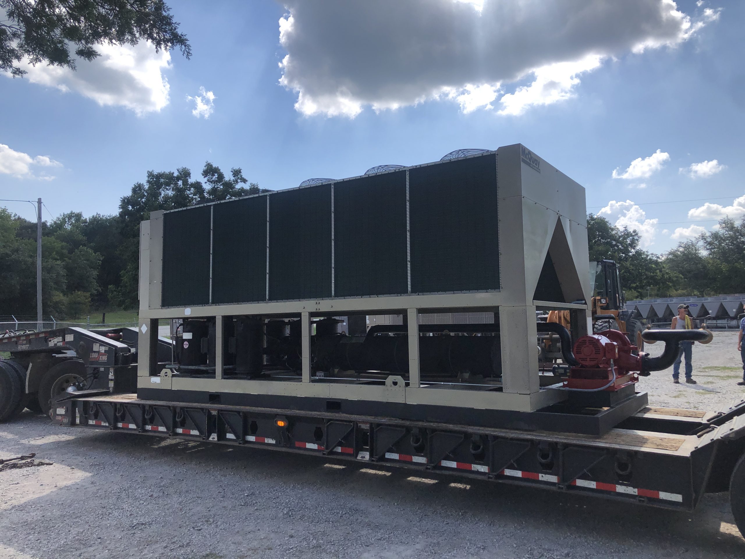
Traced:
<svg viewBox="0 0 745 559">
<path fill-rule="evenodd" d="M 180 48 L 191 57 L 186 35 L 178 31 L 162 0 L 0 0 L 0 72 L 26 73 L 19 63 L 45 63 L 75 70 L 75 54 L 91 61 L 96 45 L 136 45 L 146 40 L 157 51 Z"/>
</svg>

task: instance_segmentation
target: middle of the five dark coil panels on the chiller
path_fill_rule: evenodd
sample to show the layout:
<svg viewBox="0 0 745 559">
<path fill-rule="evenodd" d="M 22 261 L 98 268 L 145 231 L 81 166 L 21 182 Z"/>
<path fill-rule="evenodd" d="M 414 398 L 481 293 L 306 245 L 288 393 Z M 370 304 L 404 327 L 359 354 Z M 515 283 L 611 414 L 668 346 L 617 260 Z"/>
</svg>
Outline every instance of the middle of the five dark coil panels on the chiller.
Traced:
<svg viewBox="0 0 745 559">
<path fill-rule="evenodd" d="M 270 196 L 270 300 L 331 297 L 331 188 Z"/>
</svg>

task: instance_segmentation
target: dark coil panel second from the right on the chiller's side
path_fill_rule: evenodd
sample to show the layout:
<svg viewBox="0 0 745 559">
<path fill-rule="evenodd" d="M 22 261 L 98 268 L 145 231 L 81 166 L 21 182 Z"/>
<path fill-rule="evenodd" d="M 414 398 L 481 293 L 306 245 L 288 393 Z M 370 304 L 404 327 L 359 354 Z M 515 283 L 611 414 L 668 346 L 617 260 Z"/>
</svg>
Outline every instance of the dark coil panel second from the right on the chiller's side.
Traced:
<svg viewBox="0 0 745 559">
<path fill-rule="evenodd" d="M 406 171 L 336 183 L 334 233 L 335 297 L 406 293 Z"/>
</svg>

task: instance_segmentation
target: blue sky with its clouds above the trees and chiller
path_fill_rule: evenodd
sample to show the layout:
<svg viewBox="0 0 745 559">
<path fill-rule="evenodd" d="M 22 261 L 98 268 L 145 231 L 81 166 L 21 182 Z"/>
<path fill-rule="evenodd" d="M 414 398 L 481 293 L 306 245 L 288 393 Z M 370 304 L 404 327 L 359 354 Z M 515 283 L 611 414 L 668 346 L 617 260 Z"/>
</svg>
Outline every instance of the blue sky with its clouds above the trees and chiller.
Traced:
<svg viewBox="0 0 745 559">
<path fill-rule="evenodd" d="M 99 60 L 78 63 L 77 75 L 37 66 L 28 78 L 0 76 L 0 198 L 40 196 L 53 215 L 108 214 L 150 169 L 198 175 L 209 160 L 284 189 L 521 142 L 586 187 L 589 211 L 605 207 L 656 253 L 722 215 L 745 215 L 745 198 L 735 201 L 745 196 L 745 3 L 679 1 L 675 10 L 629 0 L 621 21 L 525 0 L 535 5 L 524 28 L 494 0 L 343 10 L 339 1 L 314 3 L 313 13 L 300 0 L 171 1 L 191 60 L 140 45 L 113 70 Z M 656 25 L 659 10 L 682 15 Z M 556 31 L 562 17 L 578 31 Z M 466 45 L 452 40 L 459 33 Z M 115 48 L 102 52 L 119 60 Z M 195 116 L 194 98 L 209 104 L 207 92 L 212 112 Z M 1 204 L 33 217 L 28 204 Z"/>
</svg>

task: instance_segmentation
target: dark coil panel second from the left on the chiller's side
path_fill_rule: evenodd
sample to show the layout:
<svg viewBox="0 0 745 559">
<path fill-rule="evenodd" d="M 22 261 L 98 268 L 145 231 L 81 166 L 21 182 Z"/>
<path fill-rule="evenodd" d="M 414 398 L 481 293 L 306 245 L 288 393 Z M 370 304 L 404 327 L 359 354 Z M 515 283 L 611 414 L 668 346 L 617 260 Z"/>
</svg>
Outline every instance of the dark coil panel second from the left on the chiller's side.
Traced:
<svg viewBox="0 0 745 559">
<path fill-rule="evenodd" d="M 266 300 L 267 197 L 212 208 L 212 304 Z"/>
</svg>

